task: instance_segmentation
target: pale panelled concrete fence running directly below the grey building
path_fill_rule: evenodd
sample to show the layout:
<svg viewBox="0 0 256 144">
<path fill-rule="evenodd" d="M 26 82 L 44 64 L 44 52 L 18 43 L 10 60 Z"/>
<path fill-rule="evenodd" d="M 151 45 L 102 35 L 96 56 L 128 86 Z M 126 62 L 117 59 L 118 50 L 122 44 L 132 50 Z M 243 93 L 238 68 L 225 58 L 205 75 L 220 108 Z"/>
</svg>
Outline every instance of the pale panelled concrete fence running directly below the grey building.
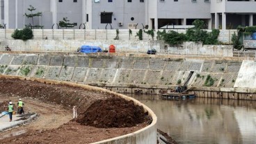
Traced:
<svg viewBox="0 0 256 144">
<path fill-rule="evenodd" d="M 13 39 L 11 37 L 15 29 L 0 29 L 0 39 Z M 154 37 L 145 33 L 147 30 L 143 30 L 143 40 L 156 40 L 157 31 L 163 31 L 163 29 L 154 30 Z M 170 31 L 166 30 L 166 33 Z M 186 29 L 175 29 L 177 33 L 186 33 Z M 207 30 L 211 32 L 211 30 Z M 74 39 L 74 40 L 114 40 L 118 36 L 119 40 L 138 40 L 138 29 L 132 29 L 131 33 L 129 29 L 118 30 L 108 29 L 33 29 L 33 39 Z M 223 44 L 231 44 L 232 34 L 237 30 L 220 30 L 218 40 Z"/>
</svg>

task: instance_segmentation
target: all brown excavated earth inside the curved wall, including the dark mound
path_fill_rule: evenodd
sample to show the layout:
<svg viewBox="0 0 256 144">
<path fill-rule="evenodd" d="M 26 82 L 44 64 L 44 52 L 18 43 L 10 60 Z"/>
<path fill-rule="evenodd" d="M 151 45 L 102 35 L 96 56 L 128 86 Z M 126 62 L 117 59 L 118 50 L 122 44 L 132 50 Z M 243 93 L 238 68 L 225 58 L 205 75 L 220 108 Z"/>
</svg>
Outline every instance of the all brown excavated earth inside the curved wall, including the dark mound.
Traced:
<svg viewBox="0 0 256 144">
<path fill-rule="evenodd" d="M 61 84 L 0 78 L 0 109 L 9 100 L 24 101 L 31 123 L 0 133 L 0 143 L 93 143 L 136 132 L 151 123 L 142 107 L 102 91 Z M 79 117 L 72 120 L 76 105 Z M 13 132 L 25 131 L 18 136 Z"/>
</svg>

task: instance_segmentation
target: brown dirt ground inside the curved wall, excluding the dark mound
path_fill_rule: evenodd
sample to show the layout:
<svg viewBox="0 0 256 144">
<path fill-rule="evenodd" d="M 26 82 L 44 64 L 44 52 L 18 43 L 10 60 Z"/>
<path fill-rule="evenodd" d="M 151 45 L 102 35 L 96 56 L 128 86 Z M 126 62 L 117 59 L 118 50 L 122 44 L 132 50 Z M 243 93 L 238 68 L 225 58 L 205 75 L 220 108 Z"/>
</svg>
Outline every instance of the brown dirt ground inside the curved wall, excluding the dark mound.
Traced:
<svg viewBox="0 0 256 144">
<path fill-rule="evenodd" d="M 135 132 L 150 122 L 150 120 L 145 120 L 133 127 L 122 128 L 97 128 L 80 125 L 75 120 L 71 120 L 73 105 L 77 104 L 79 114 L 86 114 L 86 109 L 90 105 L 99 100 L 113 98 L 113 96 L 85 91 L 81 88 L 22 80 L 0 79 L 0 87 L 2 88 L 0 101 L 13 100 L 14 103 L 17 103 L 17 100 L 22 98 L 25 102 L 25 112 L 31 111 L 39 114 L 32 123 L 1 132 L 0 143 L 93 143 Z M 125 107 L 125 112 L 127 112 L 127 108 L 129 109 L 129 107 Z M 113 109 L 113 111 L 121 111 L 120 114 L 125 110 L 122 107 Z M 134 107 L 131 110 L 134 110 Z M 141 115 L 145 116 L 145 114 Z M 26 129 L 25 134 L 3 138 L 6 134 L 22 129 Z"/>
</svg>

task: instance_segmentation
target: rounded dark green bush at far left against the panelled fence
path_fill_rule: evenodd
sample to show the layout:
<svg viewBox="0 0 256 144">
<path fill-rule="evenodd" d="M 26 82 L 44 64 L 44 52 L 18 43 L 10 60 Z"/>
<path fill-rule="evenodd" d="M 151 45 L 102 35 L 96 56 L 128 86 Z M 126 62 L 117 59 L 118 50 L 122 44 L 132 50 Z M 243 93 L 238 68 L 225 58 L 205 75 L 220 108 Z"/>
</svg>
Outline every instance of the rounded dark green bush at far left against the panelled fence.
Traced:
<svg viewBox="0 0 256 144">
<path fill-rule="evenodd" d="M 27 39 L 32 39 L 33 38 L 33 31 L 31 28 L 23 28 L 22 30 L 16 29 L 14 33 L 11 35 L 13 39 L 22 39 L 26 41 Z"/>
</svg>

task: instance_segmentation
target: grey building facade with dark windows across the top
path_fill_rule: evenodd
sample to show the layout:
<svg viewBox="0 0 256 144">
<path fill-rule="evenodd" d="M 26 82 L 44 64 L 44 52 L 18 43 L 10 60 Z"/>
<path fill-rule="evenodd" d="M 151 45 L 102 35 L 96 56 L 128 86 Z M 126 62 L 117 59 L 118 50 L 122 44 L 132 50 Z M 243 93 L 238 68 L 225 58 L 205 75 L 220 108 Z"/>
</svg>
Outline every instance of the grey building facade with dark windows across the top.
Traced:
<svg viewBox="0 0 256 144">
<path fill-rule="evenodd" d="M 255 0 L 0 0 L 1 25 L 61 28 L 66 18 L 73 28 L 150 29 L 186 28 L 201 19 L 207 28 L 234 29 L 256 24 Z M 40 17 L 26 17 L 33 13 Z"/>
</svg>

